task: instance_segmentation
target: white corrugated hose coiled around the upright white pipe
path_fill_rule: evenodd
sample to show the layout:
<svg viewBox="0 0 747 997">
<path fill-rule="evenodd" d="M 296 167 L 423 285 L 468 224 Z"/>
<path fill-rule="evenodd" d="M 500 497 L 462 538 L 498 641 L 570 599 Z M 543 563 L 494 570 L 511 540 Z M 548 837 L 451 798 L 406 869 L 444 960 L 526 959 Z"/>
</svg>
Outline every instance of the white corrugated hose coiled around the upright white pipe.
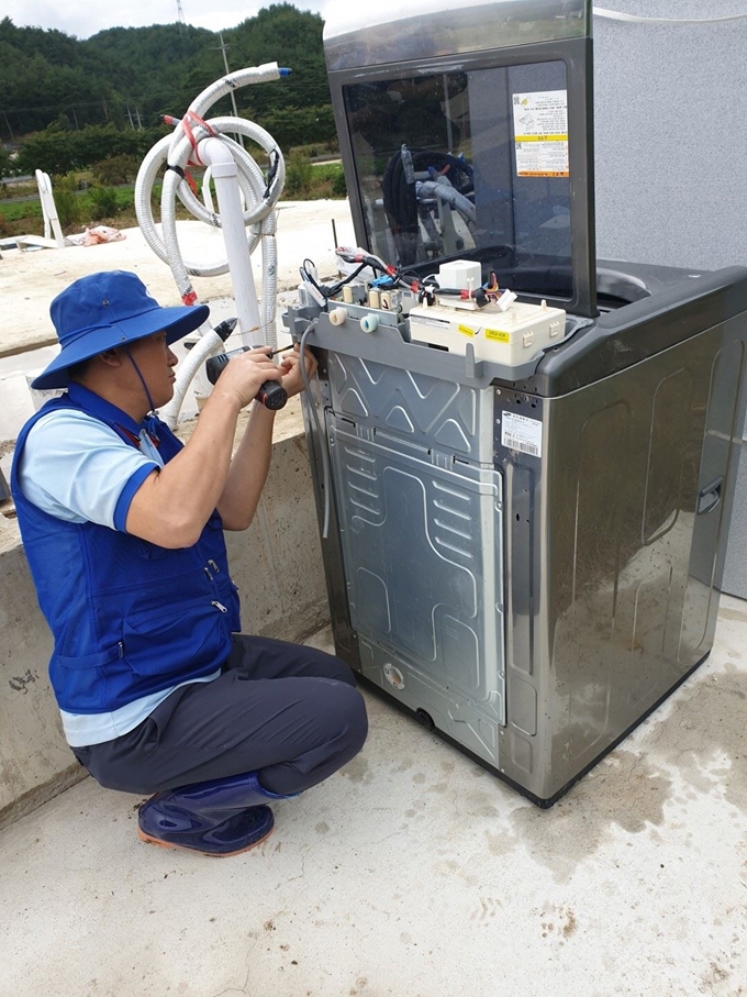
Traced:
<svg viewBox="0 0 747 997">
<path fill-rule="evenodd" d="M 267 82 L 287 76 L 289 69 L 278 68 L 277 63 L 248 69 L 239 69 L 211 84 L 190 104 L 185 119 L 177 123 L 174 133 L 157 142 L 145 156 L 135 181 L 135 212 L 145 241 L 154 253 L 168 264 L 174 279 L 186 304 L 197 302 L 190 276 L 213 277 L 231 270 L 231 259 L 218 262 L 185 259 L 179 247 L 176 230 L 176 199 L 179 198 L 187 210 L 199 221 L 214 228 L 223 228 L 221 215 L 209 211 L 202 201 L 192 193 L 185 178 L 185 170 L 194 148 L 202 140 L 214 137 L 220 141 L 236 163 L 237 182 L 247 206 L 243 212 L 243 223 L 247 231 L 247 254 L 261 245 L 263 255 L 263 296 L 259 312 L 259 329 L 256 343 L 275 346 L 276 292 L 277 292 L 277 248 L 275 233 L 277 214 L 275 206 L 282 193 L 286 180 L 286 164 L 278 144 L 272 136 L 254 122 L 243 118 L 214 118 L 205 120 L 210 108 L 222 97 L 239 87 L 249 84 Z M 259 145 L 269 157 L 268 177 L 246 149 L 228 137 L 226 132 L 243 135 Z M 191 134 L 190 134 L 191 133 Z M 154 185 L 166 165 L 160 198 L 160 232 L 152 210 Z M 160 410 L 160 418 L 174 428 L 179 410 L 192 379 L 200 372 L 203 362 L 219 353 L 223 346 L 209 323 L 199 330 L 200 340 L 189 352 L 177 370 L 174 398 Z M 198 375 L 199 391 L 210 391 L 207 378 Z"/>
</svg>

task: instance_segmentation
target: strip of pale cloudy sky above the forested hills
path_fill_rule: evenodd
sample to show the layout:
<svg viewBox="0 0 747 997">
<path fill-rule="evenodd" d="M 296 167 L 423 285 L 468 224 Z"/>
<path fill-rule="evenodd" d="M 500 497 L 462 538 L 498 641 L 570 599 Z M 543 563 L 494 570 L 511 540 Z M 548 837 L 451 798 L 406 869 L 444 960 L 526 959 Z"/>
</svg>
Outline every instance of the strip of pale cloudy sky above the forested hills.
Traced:
<svg viewBox="0 0 747 997">
<path fill-rule="evenodd" d="M 222 31 L 254 16 L 274 0 L 181 0 L 185 21 L 196 27 Z M 324 13 L 330 0 L 296 0 L 299 10 Z M 109 4 L 100 0 L 3 0 L 0 16 L 16 27 L 54 27 L 78 38 L 88 38 L 107 27 L 145 27 L 174 24 L 179 20 L 178 0 L 127 0 Z"/>
</svg>

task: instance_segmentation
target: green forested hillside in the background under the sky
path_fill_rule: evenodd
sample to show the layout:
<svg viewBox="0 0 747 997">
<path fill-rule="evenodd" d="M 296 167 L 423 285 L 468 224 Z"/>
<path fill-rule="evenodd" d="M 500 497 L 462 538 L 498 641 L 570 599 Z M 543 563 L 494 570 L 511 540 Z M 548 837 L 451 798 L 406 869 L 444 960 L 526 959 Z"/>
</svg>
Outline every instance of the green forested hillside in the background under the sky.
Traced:
<svg viewBox="0 0 747 997">
<path fill-rule="evenodd" d="M 222 33 L 230 69 L 277 62 L 293 70 L 236 92 L 239 114 L 283 147 L 334 141 L 322 29 L 319 14 L 277 3 Z M 79 41 L 4 18 L 0 175 L 35 167 L 64 174 L 104 155 L 138 155 L 166 133 L 163 114 L 180 118 L 223 75 L 221 37 L 203 29 L 113 27 Z M 211 110 L 219 113 L 232 113 L 228 98 Z"/>
</svg>

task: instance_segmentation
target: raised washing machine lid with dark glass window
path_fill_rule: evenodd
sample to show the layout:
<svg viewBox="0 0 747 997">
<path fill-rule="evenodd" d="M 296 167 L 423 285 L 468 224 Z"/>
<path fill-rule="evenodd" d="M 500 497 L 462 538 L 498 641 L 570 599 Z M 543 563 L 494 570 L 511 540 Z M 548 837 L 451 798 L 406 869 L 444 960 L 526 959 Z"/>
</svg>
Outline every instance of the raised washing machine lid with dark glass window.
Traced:
<svg viewBox="0 0 747 997">
<path fill-rule="evenodd" d="M 588 0 L 386 0 L 330 12 L 330 90 L 358 245 L 402 272 L 479 262 L 597 314 Z"/>
</svg>

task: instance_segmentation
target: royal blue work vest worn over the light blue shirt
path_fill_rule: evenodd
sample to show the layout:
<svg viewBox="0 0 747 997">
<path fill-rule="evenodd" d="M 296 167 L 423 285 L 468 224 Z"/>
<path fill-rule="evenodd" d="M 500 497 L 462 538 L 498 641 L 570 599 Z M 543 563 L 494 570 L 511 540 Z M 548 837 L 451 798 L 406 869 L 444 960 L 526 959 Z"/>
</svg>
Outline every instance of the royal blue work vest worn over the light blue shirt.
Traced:
<svg viewBox="0 0 747 997">
<path fill-rule="evenodd" d="M 18 468 L 29 431 L 59 409 L 92 416 L 132 446 L 142 425 L 73 384 L 23 427 L 11 470 L 26 558 L 55 641 L 57 702 L 70 713 L 103 713 L 218 669 L 241 630 L 238 594 L 218 511 L 193 546 L 167 550 L 97 523 L 65 522 L 23 496 Z M 182 444 L 155 417 L 145 424 L 168 463 Z"/>
</svg>

